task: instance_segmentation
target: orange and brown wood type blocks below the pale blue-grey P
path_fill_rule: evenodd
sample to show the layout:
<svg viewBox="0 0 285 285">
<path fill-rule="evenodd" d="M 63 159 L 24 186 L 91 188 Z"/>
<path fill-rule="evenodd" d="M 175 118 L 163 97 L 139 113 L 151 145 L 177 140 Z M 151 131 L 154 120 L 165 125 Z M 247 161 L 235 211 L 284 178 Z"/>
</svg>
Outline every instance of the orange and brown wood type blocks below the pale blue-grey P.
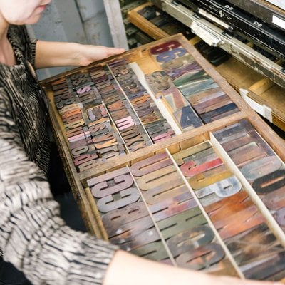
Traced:
<svg viewBox="0 0 285 285">
<path fill-rule="evenodd" d="M 220 202 L 205 207 L 205 209 L 217 227 L 219 234 L 225 239 L 240 269 L 248 278 L 260 269 L 261 264 L 266 263 L 267 258 L 270 257 L 271 259 L 279 252 L 284 252 L 281 244 L 264 224 L 263 217 L 257 212 L 257 208 L 244 191 L 232 197 L 224 198 Z M 234 219 L 234 227 L 232 227 L 231 222 L 228 222 L 228 226 L 226 226 L 227 219 Z M 263 230 L 259 232 L 258 229 Z M 240 242 L 240 239 L 243 242 Z M 248 242 L 244 242 L 244 239 L 247 239 Z M 274 272 L 275 274 L 284 271 L 284 266 L 279 266 L 277 259 L 276 261 L 271 260 L 267 272 Z M 268 276 L 271 275 L 267 274 Z M 266 274 L 259 276 L 260 279 L 266 279 L 266 277 Z"/>
</svg>

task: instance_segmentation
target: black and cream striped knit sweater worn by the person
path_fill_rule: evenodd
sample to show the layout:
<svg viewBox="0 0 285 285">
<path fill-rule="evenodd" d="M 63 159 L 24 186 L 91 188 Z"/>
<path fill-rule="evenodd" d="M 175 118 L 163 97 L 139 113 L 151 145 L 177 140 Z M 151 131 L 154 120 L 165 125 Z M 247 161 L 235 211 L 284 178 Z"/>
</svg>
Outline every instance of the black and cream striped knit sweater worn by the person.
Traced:
<svg viewBox="0 0 285 285">
<path fill-rule="evenodd" d="M 58 217 L 46 170 L 46 110 L 33 65 L 36 41 L 11 26 L 18 64 L 0 63 L 0 252 L 33 284 L 102 284 L 117 247 Z"/>
</svg>

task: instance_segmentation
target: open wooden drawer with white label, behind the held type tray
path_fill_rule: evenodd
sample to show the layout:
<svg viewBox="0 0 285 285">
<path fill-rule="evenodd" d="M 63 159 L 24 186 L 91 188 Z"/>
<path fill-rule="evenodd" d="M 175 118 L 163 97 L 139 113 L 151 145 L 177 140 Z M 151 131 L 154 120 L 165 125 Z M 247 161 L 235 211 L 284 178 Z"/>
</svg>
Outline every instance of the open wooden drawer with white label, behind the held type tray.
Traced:
<svg viewBox="0 0 285 285">
<path fill-rule="evenodd" d="M 150 2 L 147 2 L 129 11 L 128 20 L 154 39 L 170 36 L 170 34 L 162 31 L 138 13 L 138 11 L 142 11 L 142 9 L 152 5 Z M 201 39 L 197 36 L 190 39 L 190 43 L 193 45 L 199 43 L 199 41 Z M 284 88 L 281 88 L 269 78 L 265 78 L 234 57 L 217 66 L 217 71 L 241 93 L 244 100 L 257 113 L 285 131 Z"/>
</svg>

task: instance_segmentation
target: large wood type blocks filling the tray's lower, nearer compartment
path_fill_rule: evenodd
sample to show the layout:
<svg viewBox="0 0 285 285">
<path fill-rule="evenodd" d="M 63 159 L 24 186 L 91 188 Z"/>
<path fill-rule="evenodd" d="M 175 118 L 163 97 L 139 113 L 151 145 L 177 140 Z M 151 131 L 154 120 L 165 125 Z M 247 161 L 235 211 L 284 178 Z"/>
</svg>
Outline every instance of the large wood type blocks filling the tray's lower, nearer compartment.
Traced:
<svg viewBox="0 0 285 285">
<path fill-rule="evenodd" d="M 283 230 L 284 163 L 247 120 L 212 135 Z M 122 249 L 214 274 L 285 276 L 284 247 L 209 141 L 87 183 L 108 239 Z"/>
</svg>

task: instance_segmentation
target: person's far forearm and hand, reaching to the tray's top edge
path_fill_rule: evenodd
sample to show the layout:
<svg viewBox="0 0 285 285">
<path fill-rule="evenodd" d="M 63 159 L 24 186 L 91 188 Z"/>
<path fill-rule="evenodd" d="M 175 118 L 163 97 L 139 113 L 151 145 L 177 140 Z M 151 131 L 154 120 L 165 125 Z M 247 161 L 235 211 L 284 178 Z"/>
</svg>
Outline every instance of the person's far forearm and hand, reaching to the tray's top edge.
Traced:
<svg viewBox="0 0 285 285">
<path fill-rule="evenodd" d="M 37 41 L 35 68 L 87 66 L 93 61 L 123 53 L 123 48 L 83 45 L 54 41 Z"/>
</svg>

